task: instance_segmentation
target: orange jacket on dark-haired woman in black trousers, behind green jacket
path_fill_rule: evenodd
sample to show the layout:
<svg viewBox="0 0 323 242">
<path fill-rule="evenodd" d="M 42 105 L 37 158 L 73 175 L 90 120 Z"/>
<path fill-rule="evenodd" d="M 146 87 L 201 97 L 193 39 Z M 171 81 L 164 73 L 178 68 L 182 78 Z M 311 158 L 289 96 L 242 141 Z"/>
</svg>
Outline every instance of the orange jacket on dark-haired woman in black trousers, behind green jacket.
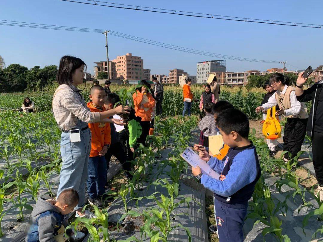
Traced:
<svg viewBox="0 0 323 242">
<path fill-rule="evenodd" d="M 149 108 L 147 111 L 145 111 L 143 108 L 140 108 L 144 95 L 147 95 L 148 97 L 148 102 L 143 104 L 143 107 Z M 155 99 L 151 96 L 150 93 L 142 94 L 138 90 L 132 95 L 132 97 L 133 103 L 135 105 L 136 116 L 141 117 L 141 121 L 151 121 L 152 108 L 155 107 L 156 104 Z"/>
</svg>

